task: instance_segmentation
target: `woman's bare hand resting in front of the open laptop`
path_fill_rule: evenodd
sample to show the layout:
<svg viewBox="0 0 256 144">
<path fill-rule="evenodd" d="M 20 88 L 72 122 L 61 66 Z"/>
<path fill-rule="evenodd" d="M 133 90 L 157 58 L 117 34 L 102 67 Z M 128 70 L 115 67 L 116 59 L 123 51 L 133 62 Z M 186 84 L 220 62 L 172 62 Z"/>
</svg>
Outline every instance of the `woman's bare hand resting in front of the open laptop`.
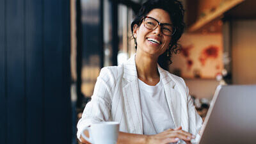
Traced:
<svg viewBox="0 0 256 144">
<path fill-rule="evenodd" d="M 190 140 L 195 138 L 192 134 L 186 131 L 182 131 L 181 127 L 178 127 L 176 129 L 168 129 L 164 132 L 161 132 L 159 134 L 148 136 L 147 143 L 148 144 L 166 144 L 166 143 L 173 143 L 177 142 L 179 140 L 184 140 L 186 143 L 190 144 Z"/>
</svg>

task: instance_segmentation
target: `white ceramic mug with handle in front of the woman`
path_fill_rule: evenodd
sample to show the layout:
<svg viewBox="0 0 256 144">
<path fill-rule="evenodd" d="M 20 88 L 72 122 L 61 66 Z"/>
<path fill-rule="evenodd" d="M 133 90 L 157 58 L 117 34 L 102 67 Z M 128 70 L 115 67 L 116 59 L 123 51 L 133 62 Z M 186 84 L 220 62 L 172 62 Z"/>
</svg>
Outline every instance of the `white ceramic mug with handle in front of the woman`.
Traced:
<svg viewBox="0 0 256 144">
<path fill-rule="evenodd" d="M 84 131 L 89 132 L 89 137 L 84 135 Z M 116 144 L 119 133 L 118 122 L 100 122 L 86 127 L 82 136 L 84 140 L 93 144 Z"/>
</svg>

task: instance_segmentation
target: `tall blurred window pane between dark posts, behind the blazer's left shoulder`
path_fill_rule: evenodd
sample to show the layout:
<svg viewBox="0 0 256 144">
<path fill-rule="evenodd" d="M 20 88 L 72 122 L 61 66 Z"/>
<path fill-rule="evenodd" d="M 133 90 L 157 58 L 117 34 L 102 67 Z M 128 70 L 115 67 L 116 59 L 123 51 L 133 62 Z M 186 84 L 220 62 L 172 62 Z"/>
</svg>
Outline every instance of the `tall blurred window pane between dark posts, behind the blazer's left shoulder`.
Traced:
<svg viewBox="0 0 256 144">
<path fill-rule="evenodd" d="M 83 109 L 84 104 L 90 100 L 93 93 L 91 86 L 86 86 L 86 89 L 84 87 L 85 85 L 94 86 L 98 76 L 96 70 L 103 67 L 103 1 L 77 0 L 77 2 L 79 3 L 77 4 L 77 58 L 79 58 L 77 61 L 77 87 L 80 89 L 77 90 L 77 108 Z M 95 71 L 92 72 L 92 70 Z"/>
</svg>

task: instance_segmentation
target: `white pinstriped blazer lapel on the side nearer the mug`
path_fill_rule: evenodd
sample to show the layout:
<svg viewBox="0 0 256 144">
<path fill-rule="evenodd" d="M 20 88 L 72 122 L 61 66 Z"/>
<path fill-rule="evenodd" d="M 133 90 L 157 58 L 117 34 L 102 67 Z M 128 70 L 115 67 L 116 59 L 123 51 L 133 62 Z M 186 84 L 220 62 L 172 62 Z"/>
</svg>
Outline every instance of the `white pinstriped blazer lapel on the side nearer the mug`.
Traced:
<svg viewBox="0 0 256 144">
<path fill-rule="evenodd" d="M 138 75 L 135 65 L 135 56 L 132 56 L 127 63 L 124 64 L 124 79 L 127 83 L 122 89 L 125 105 L 127 105 L 127 115 L 130 115 L 130 123 L 133 127 L 129 127 L 132 133 L 142 134 L 142 114 L 140 103 L 140 92 L 138 88 Z M 129 124 L 130 125 L 130 124 Z"/>
</svg>

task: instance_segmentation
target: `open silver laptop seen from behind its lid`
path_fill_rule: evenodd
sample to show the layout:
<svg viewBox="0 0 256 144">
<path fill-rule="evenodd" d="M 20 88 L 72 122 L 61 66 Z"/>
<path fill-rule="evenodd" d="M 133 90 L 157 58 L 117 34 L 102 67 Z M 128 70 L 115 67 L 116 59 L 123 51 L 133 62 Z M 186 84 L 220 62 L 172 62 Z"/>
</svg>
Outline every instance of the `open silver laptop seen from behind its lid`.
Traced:
<svg viewBox="0 0 256 144">
<path fill-rule="evenodd" d="M 199 144 L 256 143 L 256 85 L 218 86 Z"/>
</svg>

